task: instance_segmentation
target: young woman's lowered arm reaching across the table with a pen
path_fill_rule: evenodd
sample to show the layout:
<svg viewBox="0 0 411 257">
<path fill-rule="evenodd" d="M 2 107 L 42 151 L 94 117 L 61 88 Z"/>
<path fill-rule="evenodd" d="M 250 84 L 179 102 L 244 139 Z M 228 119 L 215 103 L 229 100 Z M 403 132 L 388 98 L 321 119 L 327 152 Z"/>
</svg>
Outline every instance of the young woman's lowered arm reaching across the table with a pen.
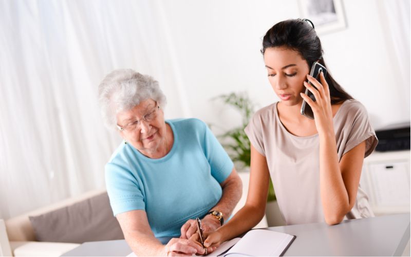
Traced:
<svg viewBox="0 0 411 257">
<path fill-rule="evenodd" d="M 212 233 L 205 233 L 207 239 L 204 241 L 204 246 L 218 246 L 222 242 L 247 232 L 261 221 L 266 210 L 269 178 L 266 157 L 258 153 L 251 145 L 250 184 L 246 204 L 227 224 Z M 197 237 L 195 234 L 191 240 L 197 241 Z"/>
</svg>

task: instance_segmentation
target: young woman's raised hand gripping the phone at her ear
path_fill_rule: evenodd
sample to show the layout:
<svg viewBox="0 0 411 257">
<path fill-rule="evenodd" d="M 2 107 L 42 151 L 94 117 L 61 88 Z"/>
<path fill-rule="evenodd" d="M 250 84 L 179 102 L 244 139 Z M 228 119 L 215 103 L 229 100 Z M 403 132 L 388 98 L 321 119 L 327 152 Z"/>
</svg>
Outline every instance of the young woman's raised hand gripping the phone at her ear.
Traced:
<svg viewBox="0 0 411 257">
<path fill-rule="evenodd" d="M 334 135 L 334 126 L 332 122 L 332 109 L 330 99 L 330 89 L 327 81 L 324 78 L 323 72 L 320 73 L 320 81 L 307 75 L 308 80 L 317 88 L 315 89 L 308 82 L 304 81 L 304 86 L 311 91 L 315 97 L 315 102 L 309 98 L 306 94 L 300 93 L 301 97 L 310 105 L 314 114 L 315 126 L 319 135 L 330 133 Z"/>
</svg>

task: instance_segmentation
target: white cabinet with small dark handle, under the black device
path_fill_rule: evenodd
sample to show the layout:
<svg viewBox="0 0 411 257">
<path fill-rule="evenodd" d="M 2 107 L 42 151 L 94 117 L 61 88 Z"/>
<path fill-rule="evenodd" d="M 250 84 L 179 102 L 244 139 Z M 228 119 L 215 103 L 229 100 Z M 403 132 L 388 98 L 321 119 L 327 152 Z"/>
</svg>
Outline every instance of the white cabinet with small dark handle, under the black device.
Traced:
<svg viewBox="0 0 411 257">
<path fill-rule="evenodd" d="M 410 212 L 410 151 L 373 152 L 360 180 L 376 216 Z"/>
</svg>

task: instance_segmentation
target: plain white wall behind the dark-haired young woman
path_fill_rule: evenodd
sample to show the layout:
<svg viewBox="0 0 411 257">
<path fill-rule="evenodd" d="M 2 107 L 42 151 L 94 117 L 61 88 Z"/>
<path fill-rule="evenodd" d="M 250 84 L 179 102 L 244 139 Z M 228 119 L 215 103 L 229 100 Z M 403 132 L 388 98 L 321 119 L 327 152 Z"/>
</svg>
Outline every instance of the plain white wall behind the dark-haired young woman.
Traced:
<svg viewBox="0 0 411 257">
<path fill-rule="evenodd" d="M 334 78 L 366 106 L 375 128 L 410 117 L 409 68 L 405 78 L 398 70 L 398 65 L 409 67 L 409 55 L 401 63 L 395 59 L 383 1 L 343 1 L 347 28 L 320 35 Z M 248 91 L 259 107 L 277 101 L 259 49 L 272 25 L 300 17 L 298 1 L 162 3 L 178 76 L 188 96 L 187 114 L 228 128 L 238 124 L 239 117 L 211 98 Z"/>
</svg>

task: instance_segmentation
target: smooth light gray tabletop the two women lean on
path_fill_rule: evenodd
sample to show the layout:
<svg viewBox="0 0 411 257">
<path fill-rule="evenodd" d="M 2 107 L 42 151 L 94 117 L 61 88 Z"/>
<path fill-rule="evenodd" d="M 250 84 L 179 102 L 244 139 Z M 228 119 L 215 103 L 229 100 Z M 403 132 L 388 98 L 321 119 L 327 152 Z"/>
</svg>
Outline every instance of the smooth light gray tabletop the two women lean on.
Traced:
<svg viewBox="0 0 411 257">
<path fill-rule="evenodd" d="M 399 256 L 410 237 L 410 215 L 351 219 L 267 228 L 296 235 L 284 256 Z M 87 242 L 62 256 L 126 256 L 124 240 Z"/>
</svg>

